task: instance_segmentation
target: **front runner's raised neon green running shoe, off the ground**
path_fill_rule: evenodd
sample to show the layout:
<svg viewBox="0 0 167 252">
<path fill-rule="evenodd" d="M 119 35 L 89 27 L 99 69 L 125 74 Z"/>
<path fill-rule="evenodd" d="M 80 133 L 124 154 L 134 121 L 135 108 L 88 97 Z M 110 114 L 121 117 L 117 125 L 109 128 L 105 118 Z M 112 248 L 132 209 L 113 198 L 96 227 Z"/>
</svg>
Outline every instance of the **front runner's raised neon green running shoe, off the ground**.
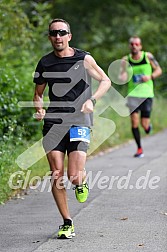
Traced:
<svg viewBox="0 0 167 252">
<path fill-rule="evenodd" d="M 88 184 L 85 182 L 82 185 L 76 185 L 74 189 L 75 189 L 75 196 L 76 196 L 77 200 L 80 203 L 85 202 L 88 198 L 88 195 L 89 195 Z"/>
</svg>

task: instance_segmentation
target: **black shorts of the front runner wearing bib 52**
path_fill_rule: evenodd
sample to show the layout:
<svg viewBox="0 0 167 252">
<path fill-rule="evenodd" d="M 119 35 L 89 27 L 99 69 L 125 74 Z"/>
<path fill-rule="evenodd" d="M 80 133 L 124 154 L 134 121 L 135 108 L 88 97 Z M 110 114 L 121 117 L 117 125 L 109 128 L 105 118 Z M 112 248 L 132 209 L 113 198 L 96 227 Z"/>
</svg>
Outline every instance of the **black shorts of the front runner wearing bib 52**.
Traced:
<svg viewBox="0 0 167 252">
<path fill-rule="evenodd" d="M 84 151 L 87 153 L 89 144 L 82 141 L 70 142 L 69 127 L 44 124 L 43 147 L 46 153 L 52 150 L 67 152 L 67 154 L 72 151 Z"/>
</svg>

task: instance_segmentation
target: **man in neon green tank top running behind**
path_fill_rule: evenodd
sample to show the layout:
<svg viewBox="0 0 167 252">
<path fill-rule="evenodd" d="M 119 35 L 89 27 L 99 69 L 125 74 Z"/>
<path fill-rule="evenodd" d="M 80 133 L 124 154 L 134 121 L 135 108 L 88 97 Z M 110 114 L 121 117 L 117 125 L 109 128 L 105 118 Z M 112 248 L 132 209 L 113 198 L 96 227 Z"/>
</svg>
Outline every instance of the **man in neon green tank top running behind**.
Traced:
<svg viewBox="0 0 167 252">
<path fill-rule="evenodd" d="M 124 67 L 124 62 L 128 61 L 133 69 L 133 76 L 128 82 L 128 107 L 131 113 L 132 134 L 137 144 L 137 152 L 134 157 L 143 157 L 139 123 L 141 122 L 146 134 L 149 134 L 152 129 L 150 114 L 154 97 L 153 80 L 162 74 L 162 70 L 150 52 L 142 51 L 139 37 L 131 37 L 129 47 L 130 54 L 123 57 L 120 78 L 124 82 L 128 79 L 128 71 Z"/>
</svg>

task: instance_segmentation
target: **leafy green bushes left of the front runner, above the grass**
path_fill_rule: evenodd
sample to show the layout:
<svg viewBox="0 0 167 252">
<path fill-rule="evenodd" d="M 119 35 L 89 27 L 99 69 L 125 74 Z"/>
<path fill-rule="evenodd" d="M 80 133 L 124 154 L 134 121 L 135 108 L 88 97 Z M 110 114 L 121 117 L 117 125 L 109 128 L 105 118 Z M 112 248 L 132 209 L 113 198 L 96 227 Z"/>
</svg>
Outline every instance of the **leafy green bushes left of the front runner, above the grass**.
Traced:
<svg viewBox="0 0 167 252">
<path fill-rule="evenodd" d="M 46 20 L 43 19 L 43 15 L 45 15 L 44 10 L 48 9 L 48 5 L 41 5 L 42 8 L 40 8 L 40 4 L 36 4 L 34 6 L 36 14 L 30 20 L 24 11 L 24 1 L 1 0 L 0 3 L 2 20 L 0 23 L 0 107 L 2 112 L 0 134 L 2 136 L 8 130 L 7 125 L 15 122 L 17 125 L 14 131 L 15 135 L 17 136 L 16 131 L 22 130 L 24 137 L 29 138 L 39 129 L 32 117 L 34 110 L 19 108 L 18 101 L 32 101 L 34 89 L 32 73 L 37 57 L 43 49 L 42 47 L 38 48 L 39 35 L 37 34 L 43 36 L 41 31 L 43 22 Z M 38 12 L 39 15 L 37 15 Z M 47 19 L 49 18 L 47 17 Z M 37 33 L 35 33 L 34 23 L 39 27 Z M 38 50 L 36 50 L 37 48 Z M 37 55 L 34 54 L 34 51 L 37 51 Z"/>
</svg>

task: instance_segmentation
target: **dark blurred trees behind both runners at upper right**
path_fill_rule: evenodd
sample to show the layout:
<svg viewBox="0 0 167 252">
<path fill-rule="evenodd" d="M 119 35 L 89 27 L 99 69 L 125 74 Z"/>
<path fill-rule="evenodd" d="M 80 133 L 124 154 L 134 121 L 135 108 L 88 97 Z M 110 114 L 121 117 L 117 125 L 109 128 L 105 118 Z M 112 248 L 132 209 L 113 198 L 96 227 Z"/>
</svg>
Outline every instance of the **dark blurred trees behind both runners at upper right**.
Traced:
<svg viewBox="0 0 167 252">
<path fill-rule="evenodd" d="M 157 85 L 167 95 L 166 9 L 165 0 L 85 0 L 82 3 L 64 0 L 53 1 L 52 17 L 56 14 L 70 22 L 72 45 L 90 51 L 105 71 L 111 62 L 129 52 L 129 37 L 140 36 L 143 49 L 151 51 L 162 66 L 163 76 Z"/>
</svg>

